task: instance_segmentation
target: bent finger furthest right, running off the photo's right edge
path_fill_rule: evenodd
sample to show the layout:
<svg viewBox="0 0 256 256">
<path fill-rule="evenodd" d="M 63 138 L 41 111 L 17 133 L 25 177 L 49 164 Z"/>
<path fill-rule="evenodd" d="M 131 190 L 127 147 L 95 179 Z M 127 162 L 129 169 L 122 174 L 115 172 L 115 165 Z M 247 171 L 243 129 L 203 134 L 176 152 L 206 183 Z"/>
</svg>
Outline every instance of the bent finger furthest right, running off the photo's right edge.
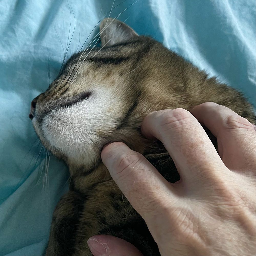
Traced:
<svg viewBox="0 0 256 256">
<path fill-rule="evenodd" d="M 231 109 L 213 102 L 200 104 L 191 113 L 217 138 L 224 164 L 231 170 L 256 169 L 256 132 L 253 125 Z"/>
</svg>

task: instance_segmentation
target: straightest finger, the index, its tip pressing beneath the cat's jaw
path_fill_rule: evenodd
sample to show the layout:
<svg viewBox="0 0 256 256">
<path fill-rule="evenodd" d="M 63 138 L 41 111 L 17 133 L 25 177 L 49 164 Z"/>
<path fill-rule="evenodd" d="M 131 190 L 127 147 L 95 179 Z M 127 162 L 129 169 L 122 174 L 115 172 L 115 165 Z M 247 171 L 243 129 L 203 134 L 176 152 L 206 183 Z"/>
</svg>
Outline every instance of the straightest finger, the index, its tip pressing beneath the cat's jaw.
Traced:
<svg viewBox="0 0 256 256">
<path fill-rule="evenodd" d="M 124 143 L 114 142 L 103 148 L 101 157 L 113 180 L 145 220 L 166 205 L 172 185 L 143 155 Z"/>
</svg>

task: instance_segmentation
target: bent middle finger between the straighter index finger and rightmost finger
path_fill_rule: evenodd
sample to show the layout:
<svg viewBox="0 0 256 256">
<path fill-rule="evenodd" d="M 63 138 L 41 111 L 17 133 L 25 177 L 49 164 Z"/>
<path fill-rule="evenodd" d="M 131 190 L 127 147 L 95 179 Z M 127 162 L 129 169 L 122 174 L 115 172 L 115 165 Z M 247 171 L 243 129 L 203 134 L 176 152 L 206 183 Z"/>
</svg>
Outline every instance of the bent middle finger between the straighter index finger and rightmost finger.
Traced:
<svg viewBox="0 0 256 256">
<path fill-rule="evenodd" d="M 181 180 L 198 180 L 204 173 L 224 166 L 202 126 L 185 109 L 152 112 L 144 118 L 142 132 L 164 144 Z"/>
</svg>

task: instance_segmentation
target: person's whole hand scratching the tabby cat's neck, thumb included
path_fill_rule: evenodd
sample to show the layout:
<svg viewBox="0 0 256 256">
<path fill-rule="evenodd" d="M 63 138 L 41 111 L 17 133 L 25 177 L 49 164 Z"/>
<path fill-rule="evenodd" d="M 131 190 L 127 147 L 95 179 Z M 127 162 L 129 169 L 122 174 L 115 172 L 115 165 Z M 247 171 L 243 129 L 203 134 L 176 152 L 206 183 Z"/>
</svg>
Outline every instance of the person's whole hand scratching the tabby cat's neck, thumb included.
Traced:
<svg viewBox="0 0 256 256">
<path fill-rule="evenodd" d="M 162 141 L 173 158 L 181 177 L 175 184 L 120 142 L 103 149 L 102 161 L 144 218 L 161 255 L 255 255 L 255 126 L 212 102 L 191 113 L 157 111 L 142 123 L 143 134 Z M 219 155 L 200 123 L 217 138 Z M 94 236 L 88 244 L 97 256 L 142 255 L 114 239 Z"/>
</svg>

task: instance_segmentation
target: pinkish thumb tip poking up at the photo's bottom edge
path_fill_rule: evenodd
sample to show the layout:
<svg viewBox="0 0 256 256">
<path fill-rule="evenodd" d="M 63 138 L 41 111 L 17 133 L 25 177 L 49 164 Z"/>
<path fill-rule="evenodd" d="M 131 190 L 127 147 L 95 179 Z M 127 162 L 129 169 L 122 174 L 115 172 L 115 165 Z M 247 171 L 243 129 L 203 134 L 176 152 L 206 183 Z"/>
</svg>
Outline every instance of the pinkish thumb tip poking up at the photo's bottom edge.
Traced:
<svg viewBox="0 0 256 256">
<path fill-rule="evenodd" d="M 114 236 L 93 236 L 87 243 L 94 256 L 143 256 L 133 244 Z"/>
</svg>

